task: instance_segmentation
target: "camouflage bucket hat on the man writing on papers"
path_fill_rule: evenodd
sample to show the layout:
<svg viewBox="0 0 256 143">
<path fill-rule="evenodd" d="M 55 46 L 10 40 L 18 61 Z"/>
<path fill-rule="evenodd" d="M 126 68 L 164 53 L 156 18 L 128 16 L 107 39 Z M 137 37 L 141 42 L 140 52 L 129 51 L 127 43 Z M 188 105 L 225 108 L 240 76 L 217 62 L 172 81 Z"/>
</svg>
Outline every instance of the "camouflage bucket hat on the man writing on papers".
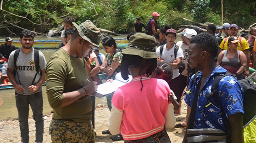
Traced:
<svg viewBox="0 0 256 143">
<path fill-rule="evenodd" d="M 83 39 L 90 42 L 99 50 L 101 50 L 101 48 L 99 47 L 100 41 L 102 39 L 101 32 L 90 20 L 86 20 L 79 25 L 77 25 L 75 22 L 72 22 L 72 24 L 75 25 L 79 35 Z"/>
</svg>

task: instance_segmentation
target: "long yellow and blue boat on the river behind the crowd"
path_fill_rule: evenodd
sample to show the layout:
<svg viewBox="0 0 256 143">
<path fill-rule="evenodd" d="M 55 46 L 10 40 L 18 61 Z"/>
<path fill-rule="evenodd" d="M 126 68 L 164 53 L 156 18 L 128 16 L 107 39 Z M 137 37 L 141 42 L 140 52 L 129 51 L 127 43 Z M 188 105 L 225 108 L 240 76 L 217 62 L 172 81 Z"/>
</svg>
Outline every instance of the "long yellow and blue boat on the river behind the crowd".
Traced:
<svg viewBox="0 0 256 143">
<path fill-rule="evenodd" d="M 116 46 L 119 49 L 125 49 L 127 47 L 128 41 L 127 39 L 115 39 L 116 40 Z M 0 44 L 5 43 L 4 39 L 0 39 Z M 59 44 L 61 43 L 61 40 L 35 40 L 35 43 L 33 44 L 33 48 L 36 49 L 57 49 L 59 48 Z M 19 40 L 13 40 L 12 44 L 15 47 L 21 48 L 21 44 Z M 99 46 L 102 48 L 102 44 L 100 42 Z"/>
</svg>

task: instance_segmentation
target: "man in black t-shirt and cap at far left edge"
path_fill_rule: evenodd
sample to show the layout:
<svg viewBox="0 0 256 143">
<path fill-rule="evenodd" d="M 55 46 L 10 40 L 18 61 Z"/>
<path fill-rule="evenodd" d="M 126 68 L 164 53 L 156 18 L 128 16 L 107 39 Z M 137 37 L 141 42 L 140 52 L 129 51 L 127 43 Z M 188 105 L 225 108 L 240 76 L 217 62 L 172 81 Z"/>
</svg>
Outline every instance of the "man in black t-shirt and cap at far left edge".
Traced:
<svg viewBox="0 0 256 143">
<path fill-rule="evenodd" d="M 5 43 L 0 46 L 0 64 L 3 60 L 8 60 L 10 53 L 16 50 L 16 47 L 12 45 L 12 40 L 10 37 L 5 39 Z"/>
</svg>

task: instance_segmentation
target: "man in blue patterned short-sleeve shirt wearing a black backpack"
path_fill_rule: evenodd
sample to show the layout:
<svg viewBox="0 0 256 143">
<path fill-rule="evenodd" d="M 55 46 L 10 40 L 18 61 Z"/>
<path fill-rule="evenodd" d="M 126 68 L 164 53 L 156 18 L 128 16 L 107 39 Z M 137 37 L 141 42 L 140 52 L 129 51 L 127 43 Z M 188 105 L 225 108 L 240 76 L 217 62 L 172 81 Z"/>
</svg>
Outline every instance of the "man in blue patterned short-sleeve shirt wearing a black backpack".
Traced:
<svg viewBox="0 0 256 143">
<path fill-rule="evenodd" d="M 232 128 L 232 143 L 242 143 L 244 142 L 242 122 L 242 116 L 244 114 L 243 89 L 239 82 L 234 76 L 224 76 L 220 80 L 217 90 L 222 106 L 218 105 L 212 96 L 209 99 L 205 96 L 207 93 L 211 92 L 214 74 L 226 71 L 226 69 L 218 67 L 215 63 L 214 58 L 217 52 L 218 44 L 216 38 L 209 33 L 202 33 L 190 39 L 187 57 L 188 63 L 191 68 L 198 69 L 201 72 L 196 77 L 194 84 L 192 82 L 194 75 L 191 77 L 185 102 L 188 104 L 189 108 L 191 108 L 195 90 L 199 88 L 193 128 L 221 129 L 227 133 L 230 123 Z M 201 84 L 199 84 L 199 81 Z M 187 134 L 185 133 L 183 143 L 186 142 Z"/>
</svg>

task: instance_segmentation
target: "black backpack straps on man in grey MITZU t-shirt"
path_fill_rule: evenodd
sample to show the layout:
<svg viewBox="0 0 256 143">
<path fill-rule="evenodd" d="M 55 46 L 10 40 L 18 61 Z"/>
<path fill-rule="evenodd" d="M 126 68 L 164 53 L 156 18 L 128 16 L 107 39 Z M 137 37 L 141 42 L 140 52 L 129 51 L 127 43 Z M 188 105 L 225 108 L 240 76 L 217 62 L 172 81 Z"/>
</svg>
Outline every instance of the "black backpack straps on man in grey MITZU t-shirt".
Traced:
<svg viewBox="0 0 256 143">
<path fill-rule="evenodd" d="M 13 75 L 15 76 L 16 73 L 17 73 L 17 59 L 19 57 L 19 53 L 20 53 L 20 48 L 18 48 L 15 52 L 14 52 L 14 70 L 13 70 Z M 42 76 L 42 71 L 40 70 L 40 67 L 39 67 L 39 51 L 37 49 L 34 49 L 34 61 L 35 61 L 35 66 L 36 66 L 36 71 L 37 71 L 37 74 L 39 74 L 40 76 Z M 37 74 L 35 75 L 33 81 L 32 81 L 32 85 L 34 85 L 34 81 L 37 77 Z M 18 75 L 18 79 L 19 79 L 19 75 Z M 19 82 L 20 82 L 20 79 L 19 79 Z M 20 82 L 21 83 L 21 82 Z"/>
</svg>

